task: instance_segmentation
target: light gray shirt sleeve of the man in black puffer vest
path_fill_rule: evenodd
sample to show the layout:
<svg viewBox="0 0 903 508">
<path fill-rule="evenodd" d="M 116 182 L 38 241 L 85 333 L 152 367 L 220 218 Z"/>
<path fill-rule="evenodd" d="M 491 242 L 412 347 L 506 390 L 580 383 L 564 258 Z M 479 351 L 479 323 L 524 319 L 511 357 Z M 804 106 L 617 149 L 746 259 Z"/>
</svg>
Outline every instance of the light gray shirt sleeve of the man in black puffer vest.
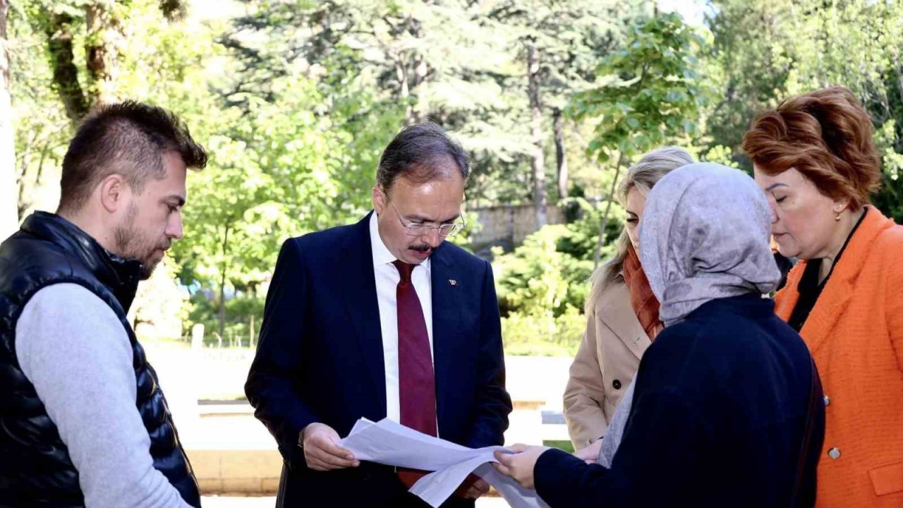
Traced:
<svg viewBox="0 0 903 508">
<path fill-rule="evenodd" d="M 88 508 L 191 508 L 154 469 L 132 346 L 103 300 L 76 284 L 44 287 L 19 317 L 15 354 L 69 448 Z"/>
</svg>

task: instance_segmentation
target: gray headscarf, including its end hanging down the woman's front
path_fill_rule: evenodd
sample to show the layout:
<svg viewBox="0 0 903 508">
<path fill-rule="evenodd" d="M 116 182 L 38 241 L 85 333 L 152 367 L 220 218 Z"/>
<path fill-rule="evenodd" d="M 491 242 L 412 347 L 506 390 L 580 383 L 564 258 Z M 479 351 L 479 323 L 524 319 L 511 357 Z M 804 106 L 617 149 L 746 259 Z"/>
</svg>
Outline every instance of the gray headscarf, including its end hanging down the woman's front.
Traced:
<svg viewBox="0 0 903 508">
<path fill-rule="evenodd" d="M 684 174 L 682 184 L 675 182 L 659 193 L 656 213 L 643 220 L 645 235 L 641 235 L 640 241 L 646 246 L 654 246 L 644 249 L 642 256 L 643 263 L 652 263 L 646 269 L 649 284 L 659 297 L 665 295 L 667 289 L 670 299 L 662 303 L 659 311 L 665 325 L 674 324 L 714 298 L 743 295 L 750 290 L 768 294 L 777 288 L 776 278 L 779 282 L 782 277 L 770 245 L 769 259 L 761 242 L 756 240 L 763 237 L 762 218 L 768 217 L 770 221 L 771 212 L 762 209 L 761 200 L 725 200 L 723 191 L 728 188 L 719 183 L 721 178 L 740 188 L 749 188 L 749 183 L 754 181 L 721 165 L 698 166 L 693 173 Z M 705 174 L 712 174 L 712 178 L 706 179 Z M 684 194 L 691 185 L 695 197 L 689 200 Z M 703 192 L 703 188 L 709 192 Z M 678 212 L 679 216 L 675 215 Z M 707 229 L 701 230 L 706 214 L 710 214 L 712 221 L 704 222 Z M 717 214 L 717 217 L 711 214 Z M 750 217 L 759 220 L 749 221 Z M 644 236 L 646 240 L 642 240 Z M 624 392 L 624 402 L 611 417 L 600 449 L 601 466 L 610 467 L 618 451 L 635 383 L 636 379 Z"/>
</svg>

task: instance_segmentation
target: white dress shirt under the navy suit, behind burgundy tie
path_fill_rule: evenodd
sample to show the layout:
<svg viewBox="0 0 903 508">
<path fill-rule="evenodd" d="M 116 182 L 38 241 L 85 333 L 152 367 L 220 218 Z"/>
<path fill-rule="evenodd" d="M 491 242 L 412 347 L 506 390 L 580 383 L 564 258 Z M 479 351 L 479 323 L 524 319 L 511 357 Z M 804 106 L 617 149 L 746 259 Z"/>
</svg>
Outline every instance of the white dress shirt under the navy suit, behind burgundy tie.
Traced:
<svg viewBox="0 0 903 508">
<path fill-rule="evenodd" d="M 386 366 L 386 417 L 401 421 L 401 403 L 398 396 L 398 313 L 396 288 L 401 276 L 392 264 L 397 258 L 389 252 L 377 226 L 377 212 L 370 216 L 370 248 L 373 251 L 373 272 L 377 279 L 379 302 L 379 327 L 383 334 L 383 361 Z M 424 309 L 426 334 L 430 339 L 430 355 L 433 355 L 433 291 L 430 278 L 430 259 L 414 267 L 411 282 L 420 306 Z M 435 361 L 433 360 L 433 365 Z"/>
</svg>

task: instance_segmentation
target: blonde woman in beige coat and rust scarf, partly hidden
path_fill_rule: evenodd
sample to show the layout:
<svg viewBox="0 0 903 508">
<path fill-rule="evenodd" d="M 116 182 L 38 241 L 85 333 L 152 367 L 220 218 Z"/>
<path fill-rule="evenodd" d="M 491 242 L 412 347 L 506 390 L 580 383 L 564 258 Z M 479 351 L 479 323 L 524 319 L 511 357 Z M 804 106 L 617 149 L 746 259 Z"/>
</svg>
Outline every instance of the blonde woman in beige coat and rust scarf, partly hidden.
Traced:
<svg viewBox="0 0 903 508">
<path fill-rule="evenodd" d="M 639 264 L 637 226 L 646 196 L 663 176 L 693 157 L 674 146 L 644 155 L 620 184 L 619 201 L 627 209 L 618 253 L 592 274 L 586 302 L 586 332 L 571 365 L 564 390 L 564 418 L 576 450 L 595 460 L 639 360 L 661 331 L 658 301 Z"/>
</svg>

